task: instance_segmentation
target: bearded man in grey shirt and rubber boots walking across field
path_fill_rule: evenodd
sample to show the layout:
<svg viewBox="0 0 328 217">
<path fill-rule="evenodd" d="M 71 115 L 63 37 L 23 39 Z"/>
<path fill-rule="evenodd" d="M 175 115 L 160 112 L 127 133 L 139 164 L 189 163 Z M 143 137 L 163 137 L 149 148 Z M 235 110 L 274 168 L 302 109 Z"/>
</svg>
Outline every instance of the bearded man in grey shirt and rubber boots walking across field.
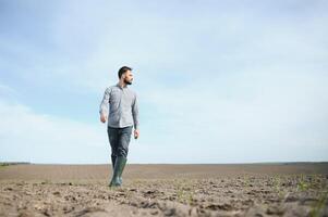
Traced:
<svg viewBox="0 0 328 217">
<path fill-rule="evenodd" d="M 138 131 L 138 107 L 136 93 L 127 88 L 132 85 L 132 68 L 119 69 L 119 82 L 105 90 L 100 103 L 100 122 L 108 120 L 107 133 L 111 146 L 112 179 L 110 187 L 122 184 L 122 173 L 126 164 L 130 138 L 134 127 L 134 138 Z"/>
</svg>

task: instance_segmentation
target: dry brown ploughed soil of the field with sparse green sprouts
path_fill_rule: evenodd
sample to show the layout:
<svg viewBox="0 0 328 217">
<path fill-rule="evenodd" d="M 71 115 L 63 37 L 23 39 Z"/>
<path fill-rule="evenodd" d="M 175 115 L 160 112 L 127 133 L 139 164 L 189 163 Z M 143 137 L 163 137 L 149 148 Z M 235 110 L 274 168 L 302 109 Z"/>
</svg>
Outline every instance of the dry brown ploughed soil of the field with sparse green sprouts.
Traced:
<svg viewBox="0 0 328 217">
<path fill-rule="evenodd" d="M 328 216 L 328 163 L 0 167 L 0 216 Z"/>
</svg>

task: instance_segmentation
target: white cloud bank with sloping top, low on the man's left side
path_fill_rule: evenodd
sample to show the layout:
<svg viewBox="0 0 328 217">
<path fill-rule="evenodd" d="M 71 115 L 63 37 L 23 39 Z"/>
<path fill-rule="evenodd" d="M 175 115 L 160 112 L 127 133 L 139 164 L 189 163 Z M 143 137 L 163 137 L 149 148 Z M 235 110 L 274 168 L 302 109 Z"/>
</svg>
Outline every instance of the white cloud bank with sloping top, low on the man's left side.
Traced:
<svg viewBox="0 0 328 217">
<path fill-rule="evenodd" d="M 1 161 L 106 163 L 106 128 L 86 125 L 0 100 Z M 106 154 L 107 153 L 107 154 Z"/>
</svg>

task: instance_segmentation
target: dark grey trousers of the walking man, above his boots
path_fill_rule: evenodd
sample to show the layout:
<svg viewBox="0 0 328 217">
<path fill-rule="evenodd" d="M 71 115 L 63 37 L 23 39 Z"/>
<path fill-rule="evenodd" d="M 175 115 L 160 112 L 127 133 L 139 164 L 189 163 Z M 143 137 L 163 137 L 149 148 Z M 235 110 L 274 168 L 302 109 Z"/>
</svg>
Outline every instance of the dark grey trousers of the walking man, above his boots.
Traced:
<svg viewBox="0 0 328 217">
<path fill-rule="evenodd" d="M 111 146 L 111 157 L 127 156 L 133 126 L 113 128 L 108 126 L 107 133 Z"/>
</svg>

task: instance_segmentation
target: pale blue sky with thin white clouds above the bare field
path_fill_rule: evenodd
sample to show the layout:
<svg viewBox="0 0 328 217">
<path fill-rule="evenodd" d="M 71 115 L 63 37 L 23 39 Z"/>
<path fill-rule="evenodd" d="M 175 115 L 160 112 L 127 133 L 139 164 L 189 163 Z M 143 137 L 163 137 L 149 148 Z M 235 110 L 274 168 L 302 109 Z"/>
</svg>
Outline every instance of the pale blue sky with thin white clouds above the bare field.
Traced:
<svg viewBox="0 0 328 217">
<path fill-rule="evenodd" d="M 0 1 L 0 161 L 110 162 L 98 108 L 133 67 L 130 163 L 328 161 L 327 1 Z"/>
</svg>

